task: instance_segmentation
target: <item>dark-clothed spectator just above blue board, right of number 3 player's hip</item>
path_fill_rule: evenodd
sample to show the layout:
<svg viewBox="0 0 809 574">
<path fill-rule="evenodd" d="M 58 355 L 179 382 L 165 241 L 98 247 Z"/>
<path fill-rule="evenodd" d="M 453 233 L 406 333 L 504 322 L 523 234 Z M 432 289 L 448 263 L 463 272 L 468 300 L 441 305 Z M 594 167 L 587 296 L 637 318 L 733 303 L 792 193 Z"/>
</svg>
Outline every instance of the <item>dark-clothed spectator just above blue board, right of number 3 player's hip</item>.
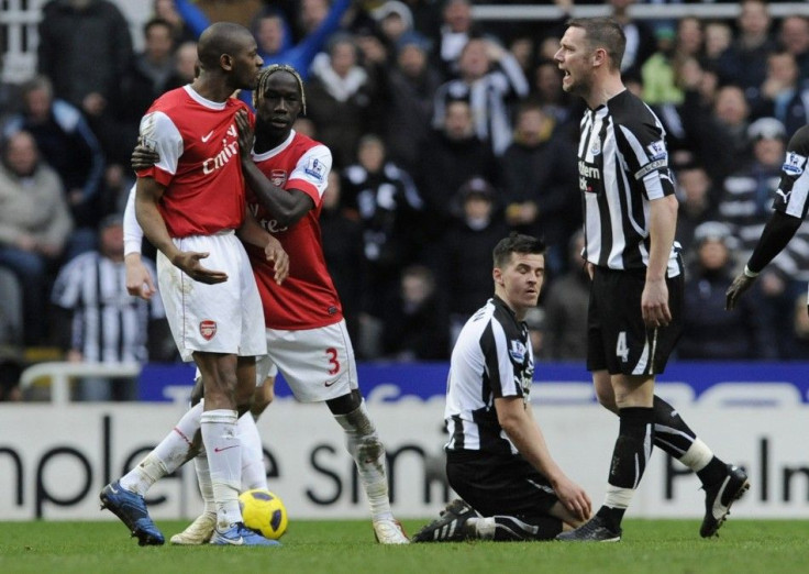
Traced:
<svg viewBox="0 0 809 574">
<path fill-rule="evenodd" d="M 403 362 L 447 360 L 446 313 L 433 273 L 422 265 L 406 267 L 395 292 L 384 312 L 385 355 Z"/>
</svg>

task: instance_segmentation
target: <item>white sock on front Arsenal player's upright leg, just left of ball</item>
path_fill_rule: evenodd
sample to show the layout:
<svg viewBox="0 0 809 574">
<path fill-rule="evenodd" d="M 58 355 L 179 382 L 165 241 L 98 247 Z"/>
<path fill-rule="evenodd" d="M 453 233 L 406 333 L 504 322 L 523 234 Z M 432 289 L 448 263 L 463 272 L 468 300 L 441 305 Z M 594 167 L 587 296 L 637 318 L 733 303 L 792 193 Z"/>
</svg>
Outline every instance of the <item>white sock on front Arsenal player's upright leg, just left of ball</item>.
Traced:
<svg viewBox="0 0 809 574">
<path fill-rule="evenodd" d="M 242 445 L 236 434 L 235 410 L 217 409 L 202 413 L 202 442 L 211 468 L 217 528 L 225 530 L 242 521 L 239 489 L 242 486 Z"/>
</svg>

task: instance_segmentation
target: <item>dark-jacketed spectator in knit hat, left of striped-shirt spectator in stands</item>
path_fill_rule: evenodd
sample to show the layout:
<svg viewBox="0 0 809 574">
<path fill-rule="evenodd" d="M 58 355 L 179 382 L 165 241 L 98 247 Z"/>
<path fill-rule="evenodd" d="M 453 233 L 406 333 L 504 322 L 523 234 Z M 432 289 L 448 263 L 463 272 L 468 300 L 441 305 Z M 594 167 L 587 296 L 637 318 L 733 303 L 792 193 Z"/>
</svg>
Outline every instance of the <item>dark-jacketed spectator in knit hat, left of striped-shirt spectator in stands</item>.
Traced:
<svg viewBox="0 0 809 574">
<path fill-rule="evenodd" d="M 430 135 L 433 98 L 441 76 L 430 64 L 428 40 L 418 32 L 402 35 L 396 52 L 396 65 L 388 77 L 385 145 L 391 159 L 417 173 L 421 169 L 419 154 Z"/>
</svg>

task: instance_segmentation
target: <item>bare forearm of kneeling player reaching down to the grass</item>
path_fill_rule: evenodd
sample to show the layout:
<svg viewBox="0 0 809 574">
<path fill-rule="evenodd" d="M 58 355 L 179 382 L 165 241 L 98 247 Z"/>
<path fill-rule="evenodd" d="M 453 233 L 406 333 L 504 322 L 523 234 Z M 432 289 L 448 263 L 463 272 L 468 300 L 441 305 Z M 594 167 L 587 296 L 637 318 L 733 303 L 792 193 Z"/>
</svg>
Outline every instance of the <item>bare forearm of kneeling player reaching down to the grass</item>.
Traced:
<svg viewBox="0 0 809 574">
<path fill-rule="evenodd" d="M 562 472 L 551 456 L 531 407 L 524 404 L 522 397 L 500 397 L 495 399 L 495 409 L 500 427 L 520 454 L 548 479 L 559 501 L 573 516 L 587 520 L 592 511 L 590 497 Z"/>
</svg>

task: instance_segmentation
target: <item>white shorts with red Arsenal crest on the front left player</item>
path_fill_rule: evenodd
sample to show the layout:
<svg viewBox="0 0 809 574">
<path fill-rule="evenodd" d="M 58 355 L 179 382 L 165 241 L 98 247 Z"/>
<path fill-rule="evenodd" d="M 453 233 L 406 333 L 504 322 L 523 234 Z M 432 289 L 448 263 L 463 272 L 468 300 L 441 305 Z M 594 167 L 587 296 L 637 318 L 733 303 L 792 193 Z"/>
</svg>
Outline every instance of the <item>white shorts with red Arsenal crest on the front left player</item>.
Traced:
<svg viewBox="0 0 809 574">
<path fill-rule="evenodd" d="M 157 253 L 157 282 L 182 361 L 195 351 L 258 356 L 267 353 L 264 309 L 253 269 L 233 231 L 174 239 L 182 251 L 207 252 L 203 267 L 228 274 L 215 285 L 195 282 Z"/>
</svg>

